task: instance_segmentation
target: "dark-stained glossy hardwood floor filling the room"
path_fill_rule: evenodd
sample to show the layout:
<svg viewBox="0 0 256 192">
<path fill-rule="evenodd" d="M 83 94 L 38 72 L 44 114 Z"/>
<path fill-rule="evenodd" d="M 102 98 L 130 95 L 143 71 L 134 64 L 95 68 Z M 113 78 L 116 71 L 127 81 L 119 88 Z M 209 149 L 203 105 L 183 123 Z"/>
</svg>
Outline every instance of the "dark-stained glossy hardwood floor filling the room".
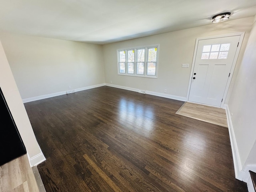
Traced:
<svg viewBox="0 0 256 192">
<path fill-rule="evenodd" d="M 25 103 L 47 192 L 246 192 L 228 128 L 175 114 L 183 102 L 100 87 Z"/>
</svg>

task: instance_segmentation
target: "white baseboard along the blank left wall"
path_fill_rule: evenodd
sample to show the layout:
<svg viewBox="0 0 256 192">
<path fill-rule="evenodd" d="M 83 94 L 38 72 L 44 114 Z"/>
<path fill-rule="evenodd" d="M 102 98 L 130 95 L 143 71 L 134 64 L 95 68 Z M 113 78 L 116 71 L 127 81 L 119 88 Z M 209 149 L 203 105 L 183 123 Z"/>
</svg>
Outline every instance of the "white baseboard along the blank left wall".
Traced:
<svg viewBox="0 0 256 192">
<path fill-rule="evenodd" d="M 101 86 L 105 86 L 105 83 L 98 84 L 98 85 L 87 86 L 87 87 L 82 87 L 82 88 L 77 88 L 77 89 L 75 89 L 75 92 L 82 91 L 82 90 L 87 90 L 87 89 L 92 89 L 92 88 L 96 88 L 96 87 L 101 87 Z M 62 91 L 62 92 L 57 92 L 57 93 L 52 93 L 52 94 L 47 94 L 47 95 L 41 95 L 41 96 L 26 98 L 26 99 L 22 99 L 22 101 L 23 101 L 23 103 L 27 103 L 27 102 L 37 101 L 37 100 L 51 98 L 51 97 L 55 97 L 55 96 L 65 95 L 65 94 L 67 94 L 67 91 Z"/>
</svg>

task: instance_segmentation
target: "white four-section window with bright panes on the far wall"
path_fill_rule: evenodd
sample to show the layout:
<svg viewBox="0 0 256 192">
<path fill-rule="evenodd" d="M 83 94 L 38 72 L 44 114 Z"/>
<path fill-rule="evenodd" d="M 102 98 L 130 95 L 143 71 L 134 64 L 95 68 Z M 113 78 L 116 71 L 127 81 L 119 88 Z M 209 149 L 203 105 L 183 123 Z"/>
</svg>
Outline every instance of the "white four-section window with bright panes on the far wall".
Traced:
<svg viewBox="0 0 256 192">
<path fill-rule="evenodd" d="M 157 77 L 159 45 L 119 49 L 118 74 Z"/>
</svg>

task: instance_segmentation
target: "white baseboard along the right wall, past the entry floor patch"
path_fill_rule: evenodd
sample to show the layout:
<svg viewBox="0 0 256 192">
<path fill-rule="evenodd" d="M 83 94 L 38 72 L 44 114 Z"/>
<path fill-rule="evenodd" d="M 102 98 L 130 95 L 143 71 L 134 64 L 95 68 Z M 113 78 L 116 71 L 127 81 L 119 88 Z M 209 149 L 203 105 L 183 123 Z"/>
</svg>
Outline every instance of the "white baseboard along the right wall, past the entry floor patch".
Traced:
<svg viewBox="0 0 256 192">
<path fill-rule="evenodd" d="M 225 105 L 224 108 L 226 109 L 226 115 L 228 120 L 228 132 L 229 132 L 231 149 L 232 149 L 235 176 L 236 176 L 236 179 L 242 181 L 244 179 L 244 176 L 246 175 L 246 172 L 242 169 L 242 163 L 239 156 L 238 146 L 236 143 L 236 137 L 234 134 L 234 128 L 232 125 L 232 120 L 231 120 L 228 105 Z"/>
</svg>

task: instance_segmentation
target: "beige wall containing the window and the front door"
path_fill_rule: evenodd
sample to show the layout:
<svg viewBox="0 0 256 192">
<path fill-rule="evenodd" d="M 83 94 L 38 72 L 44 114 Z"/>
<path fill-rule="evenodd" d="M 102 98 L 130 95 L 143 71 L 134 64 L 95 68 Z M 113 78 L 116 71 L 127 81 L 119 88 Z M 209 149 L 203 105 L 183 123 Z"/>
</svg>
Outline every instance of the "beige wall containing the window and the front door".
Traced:
<svg viewBox="0 0 256 192">
<path fill-rule="evenodd" d="M 246 32 L 238 58 L 238 64 L 236 66 L 237 69 L 242 60 L 242 55 L 253 20 L 254 18 L 250 17 L 106 44 L 103 46 L 106 83 L 110 84 L 110 81 L 112 81 L 112 84 L 118 86 L 126 86 L 159 93 L 164 93 L 164 89 L 166 89 L 166 94 L 186 97 L 196 38 Z M 117 74 L 116 49 L 152 44 L 160 44 L 157 79 L 121 76 Z M 190 67 L 182 68 L 181 65 L 183 63 L 189 63 Z M 235 76 L 236 70 L 233 77 Z M 233 82 L 234 80 L 231 82 L 231 87 Z M 229 98 L 229 96 L 230 93 L 228 93 L 227 97 Z"/>
</svg>

